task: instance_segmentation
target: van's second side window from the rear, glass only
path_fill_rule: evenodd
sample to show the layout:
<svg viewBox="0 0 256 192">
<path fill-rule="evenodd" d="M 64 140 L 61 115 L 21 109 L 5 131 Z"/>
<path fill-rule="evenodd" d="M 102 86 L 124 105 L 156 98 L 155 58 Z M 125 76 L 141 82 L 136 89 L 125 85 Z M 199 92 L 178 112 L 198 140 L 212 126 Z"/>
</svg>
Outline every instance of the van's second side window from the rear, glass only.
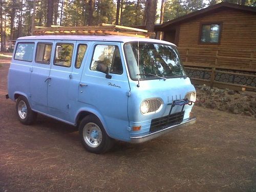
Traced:
<svg viewBox="0 0 256 192">
<path fill-rule="evenodd" d="M 49 64 L 51 60 L 52 44 L 39 42 L 36 46 L 35 61 Z"/>
</svg>

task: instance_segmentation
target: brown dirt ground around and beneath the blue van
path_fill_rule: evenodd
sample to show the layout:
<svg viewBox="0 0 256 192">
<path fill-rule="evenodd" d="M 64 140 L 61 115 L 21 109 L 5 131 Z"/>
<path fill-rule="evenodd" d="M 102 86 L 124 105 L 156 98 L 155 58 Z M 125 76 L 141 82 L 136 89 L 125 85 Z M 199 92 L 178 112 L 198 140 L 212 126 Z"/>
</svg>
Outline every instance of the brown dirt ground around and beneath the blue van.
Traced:
<svg viewBox="0 0 256 192">
<path fill-rule="evenodd" d="M 142 144 L 85 151 L 77 130 L 18 122 L 0 67 L 0 191 L 256 191 L 256 120 L 195 106 L 197 123 Z"/>
</svg>

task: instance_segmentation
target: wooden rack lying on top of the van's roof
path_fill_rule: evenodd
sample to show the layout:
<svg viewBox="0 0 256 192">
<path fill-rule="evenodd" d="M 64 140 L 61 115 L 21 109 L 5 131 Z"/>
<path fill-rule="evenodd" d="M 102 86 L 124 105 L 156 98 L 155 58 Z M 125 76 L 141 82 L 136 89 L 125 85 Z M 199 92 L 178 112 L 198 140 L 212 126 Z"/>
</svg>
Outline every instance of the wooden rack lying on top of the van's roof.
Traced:
<svg viewBox="0 0 256 192">
<path fill-rule="evenodd" d="M 99 26 L 80 27 L 39 27 L 34 29 L 34 35 L 124 35 L 132 37 L 149 38 L 155 33 L 148 33 L 147 30 L 133 27 L 125 27 L 111 24 L 100 24 Z"/>
</svg>

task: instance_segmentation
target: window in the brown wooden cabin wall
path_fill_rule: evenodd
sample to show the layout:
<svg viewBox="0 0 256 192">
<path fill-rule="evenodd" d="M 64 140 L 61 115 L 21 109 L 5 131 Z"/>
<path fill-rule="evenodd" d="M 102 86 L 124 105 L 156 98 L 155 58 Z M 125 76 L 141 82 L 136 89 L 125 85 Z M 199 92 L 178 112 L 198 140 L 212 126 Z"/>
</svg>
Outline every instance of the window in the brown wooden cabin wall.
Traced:
<svg viewBox="0 0 256 192">
<path fill-rule="evenodd" d="M 200 43 L 201 44 L 219 44 L 220 32 L 221 32 L 221 24 L 201 24 Z"/>
</svg>

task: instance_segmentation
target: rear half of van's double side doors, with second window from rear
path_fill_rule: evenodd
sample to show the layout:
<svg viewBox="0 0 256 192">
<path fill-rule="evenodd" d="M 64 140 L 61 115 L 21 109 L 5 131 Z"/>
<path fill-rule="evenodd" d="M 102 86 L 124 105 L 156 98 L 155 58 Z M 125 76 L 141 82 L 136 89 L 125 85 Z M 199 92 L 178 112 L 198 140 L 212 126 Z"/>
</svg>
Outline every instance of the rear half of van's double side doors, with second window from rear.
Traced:
<svg viewBox="0 0 256 192">
<path fill-rule="evenodd" d="M 31 69 L 30 93 L 33 110 L 47 113 L 48 80 L 51 69 L 53 43 L 51 41 L 37 42 L 35 61 Z"/>
</svg>

